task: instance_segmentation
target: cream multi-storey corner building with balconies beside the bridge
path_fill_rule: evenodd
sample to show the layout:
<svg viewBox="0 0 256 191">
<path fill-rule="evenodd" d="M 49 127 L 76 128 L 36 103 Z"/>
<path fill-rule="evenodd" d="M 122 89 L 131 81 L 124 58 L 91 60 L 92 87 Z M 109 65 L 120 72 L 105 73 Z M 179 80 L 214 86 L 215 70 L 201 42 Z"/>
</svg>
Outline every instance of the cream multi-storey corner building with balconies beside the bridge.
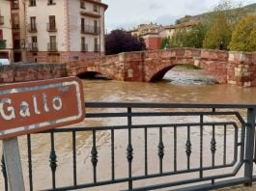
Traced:
<svg viewBox="0 0 256 191">
<path fill-rule="evenodd" d="M 11 8 L 14 62 L 60 63 L 104 54 L 107 5 L 100 0 L 12 0 Z"/>
</svg>

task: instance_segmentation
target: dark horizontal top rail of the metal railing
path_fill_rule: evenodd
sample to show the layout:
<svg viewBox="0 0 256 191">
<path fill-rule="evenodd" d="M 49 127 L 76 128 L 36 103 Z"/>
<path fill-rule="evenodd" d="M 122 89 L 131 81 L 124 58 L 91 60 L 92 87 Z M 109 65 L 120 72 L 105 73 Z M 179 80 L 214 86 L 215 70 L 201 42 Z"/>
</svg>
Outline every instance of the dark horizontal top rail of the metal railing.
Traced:
<svg viewBox="0 0 256 191">
<path fill-rule="evenodd" d="M 86 101 L 87 108 L 256 108 L 256 104 L 225 104 L 225 103 L 172 103 L 172 102 L 99 102 Z"/>
</svg>

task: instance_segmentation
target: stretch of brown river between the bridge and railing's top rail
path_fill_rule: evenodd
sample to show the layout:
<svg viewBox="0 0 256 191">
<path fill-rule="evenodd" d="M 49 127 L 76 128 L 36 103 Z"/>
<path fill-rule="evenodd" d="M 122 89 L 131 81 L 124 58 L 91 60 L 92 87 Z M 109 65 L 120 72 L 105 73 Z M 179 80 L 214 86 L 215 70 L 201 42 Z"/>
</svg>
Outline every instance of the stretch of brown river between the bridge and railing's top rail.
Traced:
<svg viewBox="0 0 256 191">
<path fill-rule="evenodd" d="M 173 68 L 156 83 L 84 80 L 87 101 L 256 103 L 256 88 L 213 84 L 202 69 Z"/>
</svg>

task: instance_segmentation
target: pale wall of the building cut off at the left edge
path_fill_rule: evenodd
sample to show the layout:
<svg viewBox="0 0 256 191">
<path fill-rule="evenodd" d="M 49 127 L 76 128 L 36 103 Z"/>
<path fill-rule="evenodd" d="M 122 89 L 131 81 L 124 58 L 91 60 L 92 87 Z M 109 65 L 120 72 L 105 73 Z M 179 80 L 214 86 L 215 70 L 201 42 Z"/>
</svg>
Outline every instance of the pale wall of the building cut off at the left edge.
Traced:
<svg viewBox="0 0 256 191">
<path fill-rule="evenodd" d="M 0 0 L 0 15 L 4 16 L 4 24 L 0 25 L 0 29 L 3 31 L 3 39 L 6 40 L 6 49 L 12 49 L 13 36 L 10 1 Z"/>
</svg>

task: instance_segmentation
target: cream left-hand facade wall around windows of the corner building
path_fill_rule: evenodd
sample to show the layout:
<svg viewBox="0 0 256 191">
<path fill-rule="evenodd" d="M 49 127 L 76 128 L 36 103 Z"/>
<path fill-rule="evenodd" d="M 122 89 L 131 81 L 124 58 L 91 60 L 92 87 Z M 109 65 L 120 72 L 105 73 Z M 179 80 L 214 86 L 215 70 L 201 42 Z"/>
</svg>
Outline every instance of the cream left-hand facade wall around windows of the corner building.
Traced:
<svg viewBox="0 0 256 191">
<path fill-rule="evenodd" d="M 47 51 L 47 43 L 50 36 L 56 36 L 58 51 L 69 51 L 69 43 L 66 36 L 67 29 L 67 0 L 55 0 L 55 5 L 47 5 L 47 0 L 38 0 L 37 6 L 29 6 L 26 1 L 26 23 L 30 23 L 30 17 L 36 16 L 37 33 L 27 32 L 27 42 L 31 42 L 32 36 L 38 37 L 39 51 Z M 57 32 L 48 32 L 49 15 L 55 15 Z"/>
</svg>

